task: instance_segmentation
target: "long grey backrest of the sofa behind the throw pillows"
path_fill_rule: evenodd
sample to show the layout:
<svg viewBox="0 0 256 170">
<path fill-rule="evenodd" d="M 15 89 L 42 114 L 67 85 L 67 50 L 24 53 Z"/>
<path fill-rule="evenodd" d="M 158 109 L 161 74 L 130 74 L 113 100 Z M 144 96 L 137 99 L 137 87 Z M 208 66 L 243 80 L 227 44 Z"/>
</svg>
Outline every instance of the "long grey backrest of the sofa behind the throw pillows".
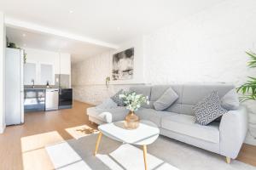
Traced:
<svg viewBox="0 0 256 170">
<path fill-rule="evenodd" d="M 170 85 L 154 85 L 154 86 L 134 86 L 131 91 L 137 94 L 148 96 L 149 105 L 143 105 L 144 108 L 154 109 L 154 101 L 160 98 L 166 92 L 167 88 L 172 88 L 178 95 L 178 99 L 165 111 L 182 113 L 186 115 L 195 115 L 192 107 L 201 99 L 204 99 L 207 94 L 212 91 L 217 91 L 221 99 L 231 89 L 235 88 L 231 84 L 220 83 L 185 83 L 185 84 L 170 84 Z"/>
</svg>

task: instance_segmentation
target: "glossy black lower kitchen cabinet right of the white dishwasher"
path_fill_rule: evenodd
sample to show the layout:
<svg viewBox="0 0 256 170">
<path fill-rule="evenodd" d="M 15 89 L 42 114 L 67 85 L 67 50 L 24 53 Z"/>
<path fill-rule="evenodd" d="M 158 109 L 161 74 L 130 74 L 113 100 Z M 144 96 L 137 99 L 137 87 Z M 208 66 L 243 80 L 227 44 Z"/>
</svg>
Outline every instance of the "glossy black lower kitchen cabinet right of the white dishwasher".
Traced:
<svg viewBox="0 0 256 170">
<path fill-rule="evenodd" d="M 73 88 L 60 88 L 59 109 L 70 109 L 73 107 Z"/>
</svg>

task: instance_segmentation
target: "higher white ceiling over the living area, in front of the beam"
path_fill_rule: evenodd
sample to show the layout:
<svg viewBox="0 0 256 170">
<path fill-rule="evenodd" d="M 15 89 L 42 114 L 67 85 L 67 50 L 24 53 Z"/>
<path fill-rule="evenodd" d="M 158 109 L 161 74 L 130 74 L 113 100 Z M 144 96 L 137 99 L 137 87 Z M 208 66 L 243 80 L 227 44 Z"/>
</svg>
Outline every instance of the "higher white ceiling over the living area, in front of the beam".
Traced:
<svg viewBox="0 0 256 170">
<path fill-rule="evenodd" d="M 6 17 L 119 44 L 224 0 L 0 0 Z"/>
</svg>

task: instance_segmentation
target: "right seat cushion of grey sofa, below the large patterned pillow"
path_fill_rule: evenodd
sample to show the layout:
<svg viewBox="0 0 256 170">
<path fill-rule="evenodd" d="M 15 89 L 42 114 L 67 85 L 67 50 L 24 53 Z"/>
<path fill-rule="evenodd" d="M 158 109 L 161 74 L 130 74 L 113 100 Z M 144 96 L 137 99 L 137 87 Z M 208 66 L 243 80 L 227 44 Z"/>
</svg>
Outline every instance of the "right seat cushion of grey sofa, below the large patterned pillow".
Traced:
<svg viewBox="0 0 256 170">
<path fill-rule="evenodd" d="M 181 133 L 195 139 L 203 139 L 212 143 L 219 143 L 219 123 L 212 122 L 207 126 L 195 124 L 195 116 L 177 114 L 163 116 L 161 127 L 176 133 Z"/>
</svg>

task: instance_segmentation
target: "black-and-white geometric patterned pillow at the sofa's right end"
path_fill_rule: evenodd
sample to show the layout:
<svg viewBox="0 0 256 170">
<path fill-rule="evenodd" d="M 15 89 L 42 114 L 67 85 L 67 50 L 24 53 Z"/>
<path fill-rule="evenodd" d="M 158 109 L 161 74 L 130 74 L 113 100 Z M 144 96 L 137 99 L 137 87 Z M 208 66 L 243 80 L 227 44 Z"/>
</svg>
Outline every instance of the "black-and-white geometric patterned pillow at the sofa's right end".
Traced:
<svg viewBox="0 0 256 170">
<path fill-rule="evenodd" d="M 213 91 L 212 94 L 202 99 L 193 107 L 193 111 L 195 111 L 195 123 L 201 125 L 207 125 L 228 112 L 221 106 L 217 91 Z"/>
</svg>

